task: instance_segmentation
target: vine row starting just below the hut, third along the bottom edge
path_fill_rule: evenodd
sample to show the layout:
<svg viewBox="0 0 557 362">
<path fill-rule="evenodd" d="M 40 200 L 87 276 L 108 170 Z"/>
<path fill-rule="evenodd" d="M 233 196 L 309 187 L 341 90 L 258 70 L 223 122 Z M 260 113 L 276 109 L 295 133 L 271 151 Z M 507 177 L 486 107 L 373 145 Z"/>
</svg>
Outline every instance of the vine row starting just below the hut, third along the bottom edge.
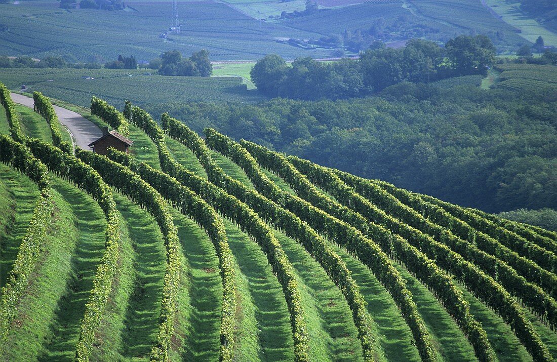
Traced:
<svg viewBox="0 0 557 362">
<path fill-rule="evenodd" d="M 172 206 L 185 216 L 193 219 L 207 233 L 214 245 L 219 260 L 222 276 L 223 303 L 221 311 L 221 347 L 219 360 L 231 361 L 234 346 L 234 313 L 236 312 L 236 285 L 234 284 L 233 256 L 228 247 L 226 231 L 217 212 L 192 190 L 181 185 L 178 180 L 155 170 L 145 163 L 135 162 L 130 155 L 114 149 L 109 150 L 108 157 L 129 167 L 143 180 L 167 199 Z"/>
</svg>

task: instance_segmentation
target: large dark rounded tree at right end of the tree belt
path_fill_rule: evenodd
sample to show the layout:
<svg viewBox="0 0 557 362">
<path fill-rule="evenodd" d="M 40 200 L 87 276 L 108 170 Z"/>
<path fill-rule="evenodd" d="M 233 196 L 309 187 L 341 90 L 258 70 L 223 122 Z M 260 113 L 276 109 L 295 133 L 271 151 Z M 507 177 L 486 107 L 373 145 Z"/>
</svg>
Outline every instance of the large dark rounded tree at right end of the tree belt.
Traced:
<svg viewBox="0 0 557 362">
<path fill-rule="evenodd" d="M 460 35 L 445 45 L 449 66 L 457 76 L 487 74 L 495 62 L 495 46 L 485 35 Z"/>
</svg>

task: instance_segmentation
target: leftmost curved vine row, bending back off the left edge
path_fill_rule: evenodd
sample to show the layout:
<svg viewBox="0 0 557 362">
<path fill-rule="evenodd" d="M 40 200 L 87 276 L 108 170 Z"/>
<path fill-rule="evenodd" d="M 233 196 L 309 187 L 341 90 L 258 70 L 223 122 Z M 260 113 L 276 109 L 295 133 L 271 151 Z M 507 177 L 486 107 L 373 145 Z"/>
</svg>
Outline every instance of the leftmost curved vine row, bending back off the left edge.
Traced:
<svg viewBox="0 0 557 362">
<path fill-rule="evenodd" d="M 8 94 L 9 96 L 9 94 Z M 17 116 L 17 115 L 16 115 Z M 26 174 L 41 192 L 33 216 L 17 253 L 0 299 L 0 349 L 8 338 L 12 322 L 17 315 L 19 299 L 27 288 L 44 247 L 47 227 L 53 212 L 52 192 L 48 170 L 21 143 L 0 135 L 0 161 Z"/>
</svg>

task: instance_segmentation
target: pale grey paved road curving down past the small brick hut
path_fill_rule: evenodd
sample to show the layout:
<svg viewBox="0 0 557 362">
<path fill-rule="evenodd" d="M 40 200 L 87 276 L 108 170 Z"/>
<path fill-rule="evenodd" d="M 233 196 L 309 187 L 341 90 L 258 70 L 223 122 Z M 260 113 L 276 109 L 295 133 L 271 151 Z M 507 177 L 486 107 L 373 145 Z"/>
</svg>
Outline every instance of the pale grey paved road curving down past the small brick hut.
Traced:
<svg viewBox="0 0 557 362">
<path fill-rule="evenodd" d="M 27 107 L 33 107 L 33 99 L 21 94 L 11 93 L 12 100 Z M 89 144 L 102 136 L 102 130 L 90 120 L 68 109 L 53 105 L 60 123 L 65 125 L 74 139 L 74 144 L 84 150 L 91 150 Z"/>
</svg>

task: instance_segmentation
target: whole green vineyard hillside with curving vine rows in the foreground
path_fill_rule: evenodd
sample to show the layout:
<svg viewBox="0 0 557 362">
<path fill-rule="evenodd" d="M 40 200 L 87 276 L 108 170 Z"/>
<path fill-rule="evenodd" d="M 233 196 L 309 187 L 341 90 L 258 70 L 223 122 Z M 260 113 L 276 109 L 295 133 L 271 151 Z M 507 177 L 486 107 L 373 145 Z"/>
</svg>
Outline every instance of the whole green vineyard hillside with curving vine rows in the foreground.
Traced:
<svg viewBox="0 0 557 362">
<path fill-rule="evenodd" d="M 2 360 L 557 357 L 553 232 L 130 102 L 91 102 L 130 154 L 74 154 L 0 100 Z"/>
</svg>

